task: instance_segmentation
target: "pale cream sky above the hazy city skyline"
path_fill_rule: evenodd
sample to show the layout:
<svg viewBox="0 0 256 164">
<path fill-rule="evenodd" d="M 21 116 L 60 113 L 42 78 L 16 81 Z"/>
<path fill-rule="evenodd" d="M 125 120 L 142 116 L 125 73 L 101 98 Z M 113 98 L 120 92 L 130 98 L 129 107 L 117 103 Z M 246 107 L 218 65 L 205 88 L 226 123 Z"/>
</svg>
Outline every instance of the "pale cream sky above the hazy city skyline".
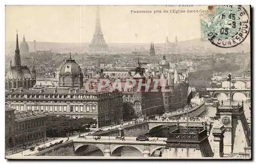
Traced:
<svg viewBox="0 0 256 164">
<path fill-rule="evenodd" d="M 6 6 L 6 41 L 91 42 L 96 6 Z M 207 10 L 207 6 L 100 6 L 100 19 L 107 43 L 155 43 L 201 37 L 201 13 L 163 13 L 163 10 Z M 131 13 L 147 10 L 152 13 Z M 154 11 L 161 10 L 162 13 Z M 81 11 L 81 12 L 80 12 Z M 84 35 L 85 34 L 85 35 Z M 137 37 L 135 36 L 137 34 Z"/>
</svg>

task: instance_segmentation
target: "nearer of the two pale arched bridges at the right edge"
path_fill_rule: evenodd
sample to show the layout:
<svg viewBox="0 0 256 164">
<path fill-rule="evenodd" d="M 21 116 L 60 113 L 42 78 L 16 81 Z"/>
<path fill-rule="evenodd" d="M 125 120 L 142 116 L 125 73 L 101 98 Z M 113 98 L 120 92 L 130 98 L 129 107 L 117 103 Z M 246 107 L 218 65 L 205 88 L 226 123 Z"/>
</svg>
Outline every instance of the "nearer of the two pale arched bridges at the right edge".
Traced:
<svg viewBox="0 0 256 164">
<path fill-rule="evenodd" d="M 227 100 L 230 98 L 229 88 L 206 88 L 206 91 L 210 98 L 216 98 L 220 93 L 224 93 L 227 96 Z M 231 89 L 231 100 L 233 100 L 234 93 L 243 93 L 246 100 L 251 98 L 250 88 L 233 88 Z"/>
</svg>

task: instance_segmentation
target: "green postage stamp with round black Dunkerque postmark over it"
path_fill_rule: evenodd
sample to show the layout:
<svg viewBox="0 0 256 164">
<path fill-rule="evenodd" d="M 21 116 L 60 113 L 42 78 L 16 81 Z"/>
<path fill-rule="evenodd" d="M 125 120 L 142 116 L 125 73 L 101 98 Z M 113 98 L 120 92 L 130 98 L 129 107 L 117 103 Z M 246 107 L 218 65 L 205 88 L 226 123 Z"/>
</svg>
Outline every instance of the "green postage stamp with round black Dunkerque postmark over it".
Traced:
<svg viewBox="0 0 256 164">
<path fill-rule="evenodd" d="M 208 15 L 200 19 L 202 38 L 220 48 L 241 44 L 249 34 L 250 18 L 244 7 L 209 6 Z"/>
</svg>

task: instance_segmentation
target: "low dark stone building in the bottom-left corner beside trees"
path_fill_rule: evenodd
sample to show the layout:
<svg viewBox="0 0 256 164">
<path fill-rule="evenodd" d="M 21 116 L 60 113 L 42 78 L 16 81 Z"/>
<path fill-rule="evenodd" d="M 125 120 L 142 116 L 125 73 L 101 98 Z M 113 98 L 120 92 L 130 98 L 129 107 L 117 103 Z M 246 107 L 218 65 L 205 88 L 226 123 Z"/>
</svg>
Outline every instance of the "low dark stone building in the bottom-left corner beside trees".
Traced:
<svg viewBox="0 0 256 164">
<path fill-rule="evenodd" d="M 47 115 L 31 110 L 16 112 L 15 109 L 6 105 L 5 116 L 6 148 L 18 148 L 46 138 Z"/>
</svg>

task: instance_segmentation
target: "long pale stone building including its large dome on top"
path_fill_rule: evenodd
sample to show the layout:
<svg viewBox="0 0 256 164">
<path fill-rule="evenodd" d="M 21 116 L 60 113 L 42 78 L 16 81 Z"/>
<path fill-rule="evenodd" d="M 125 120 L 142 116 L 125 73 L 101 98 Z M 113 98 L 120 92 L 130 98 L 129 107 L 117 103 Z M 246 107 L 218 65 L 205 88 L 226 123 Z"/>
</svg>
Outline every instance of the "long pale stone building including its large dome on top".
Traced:
<svg viewBox="0 0 256 164">
<path fill-rule="evenodd" d="M 93 118 L 97 127 L 122 121 L 122 94 L 118 91 L 88 91 L 83 87 L 80 66 L 73 60 L 61 67 L 58 87 L 37 86 L 6 90 L 6 102 L 16 111 L 38 111 L 73 119 Z"/>
</svg>

